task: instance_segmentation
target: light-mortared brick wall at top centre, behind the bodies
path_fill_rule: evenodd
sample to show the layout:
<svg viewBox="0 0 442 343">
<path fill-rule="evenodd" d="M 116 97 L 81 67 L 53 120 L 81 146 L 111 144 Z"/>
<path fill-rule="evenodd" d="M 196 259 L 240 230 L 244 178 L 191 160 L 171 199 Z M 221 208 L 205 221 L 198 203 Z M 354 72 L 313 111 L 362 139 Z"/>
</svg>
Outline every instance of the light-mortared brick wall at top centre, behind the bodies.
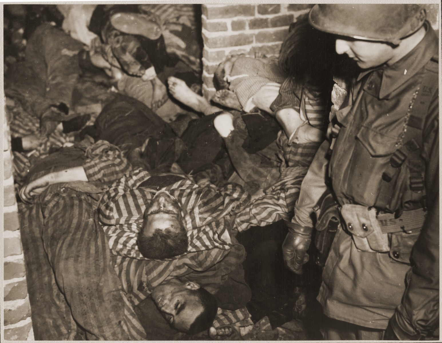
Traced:
<svg viewBox="0 0 442 343">
<path fill-rule="evenodd" d="M 227 55 L 279 54 L 290 23 L 308 13 L 310 4 L 203 4 L 203 89 L 210 99 L 215 92 L 213 72 Z"/>
</svg>

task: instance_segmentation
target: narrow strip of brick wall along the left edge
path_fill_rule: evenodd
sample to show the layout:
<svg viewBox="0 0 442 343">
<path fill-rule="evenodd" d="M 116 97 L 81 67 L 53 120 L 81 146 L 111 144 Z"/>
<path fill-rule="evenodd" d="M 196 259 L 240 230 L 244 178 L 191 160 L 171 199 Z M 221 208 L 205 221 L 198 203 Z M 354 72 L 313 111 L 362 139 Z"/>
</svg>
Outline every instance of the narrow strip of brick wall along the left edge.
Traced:
<svg viewBox="0 0 442 343">
<path fill-rule="evenodd" d="M 10 133 L 3 111 L 3 339 L 34 340 L 12 177 Z"/>
</svg>

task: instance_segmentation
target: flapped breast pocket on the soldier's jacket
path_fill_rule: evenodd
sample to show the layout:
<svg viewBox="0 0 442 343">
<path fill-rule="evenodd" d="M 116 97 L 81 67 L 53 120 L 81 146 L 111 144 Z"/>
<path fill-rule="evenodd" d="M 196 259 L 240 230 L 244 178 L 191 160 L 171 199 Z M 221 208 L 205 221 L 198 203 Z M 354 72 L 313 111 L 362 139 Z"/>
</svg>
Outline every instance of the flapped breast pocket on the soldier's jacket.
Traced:
<svg viewBox="0 0 442 343">
<path fill-rule="evenodd" d="M 384 135 L 366 126 L 362 126 L 356 135 L 356 139 L 373 157 L 390 156 L 397 149 L 397 137 Z"/>
</svg>

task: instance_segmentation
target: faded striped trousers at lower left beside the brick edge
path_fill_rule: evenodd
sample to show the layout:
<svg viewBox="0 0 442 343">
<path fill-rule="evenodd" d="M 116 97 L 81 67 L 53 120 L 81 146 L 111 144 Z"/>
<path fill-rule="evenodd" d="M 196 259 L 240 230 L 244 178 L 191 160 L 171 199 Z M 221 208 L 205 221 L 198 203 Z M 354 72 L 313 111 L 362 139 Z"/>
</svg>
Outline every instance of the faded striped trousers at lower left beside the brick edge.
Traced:
<svg viewBox="0 0 442 343">
<path fill-rule="evenodd" d="M 96 201 L 70 188 L 39 200 L 20 204 L 35 339 L 145 339 L 111 264 Z"/>
</svg>

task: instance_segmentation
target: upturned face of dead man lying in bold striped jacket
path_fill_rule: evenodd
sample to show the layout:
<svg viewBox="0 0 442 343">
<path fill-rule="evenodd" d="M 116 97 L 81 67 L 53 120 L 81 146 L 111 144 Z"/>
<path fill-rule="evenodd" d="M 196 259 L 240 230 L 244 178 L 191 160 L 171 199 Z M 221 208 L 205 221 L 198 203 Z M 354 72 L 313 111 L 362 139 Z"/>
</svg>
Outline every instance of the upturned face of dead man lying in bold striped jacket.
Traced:
<svg viewBox="0 0 442 343">
<path fill-rule="evenodd" d="M 182 216 L 178 201 L 167 191 L 159 191 L 153 197 L 145 213 L 143 235 L 149 236 L 157 229 L 180 230 Z"/>
</svg>

